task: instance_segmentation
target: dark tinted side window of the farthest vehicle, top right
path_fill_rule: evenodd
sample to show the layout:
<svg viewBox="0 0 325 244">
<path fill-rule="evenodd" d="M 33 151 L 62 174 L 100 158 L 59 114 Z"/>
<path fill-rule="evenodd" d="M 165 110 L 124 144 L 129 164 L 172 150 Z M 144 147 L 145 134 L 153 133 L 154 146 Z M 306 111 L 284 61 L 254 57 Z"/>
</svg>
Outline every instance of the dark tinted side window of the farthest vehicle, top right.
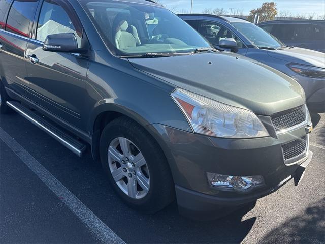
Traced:
<svg viewBox="0 0 325 244">
<path fill-rule="evenodd" d="M 324 39 L 323 29 L 315 24 L 278 24 L 274 35 L 281 40 Z"/>
</svg>

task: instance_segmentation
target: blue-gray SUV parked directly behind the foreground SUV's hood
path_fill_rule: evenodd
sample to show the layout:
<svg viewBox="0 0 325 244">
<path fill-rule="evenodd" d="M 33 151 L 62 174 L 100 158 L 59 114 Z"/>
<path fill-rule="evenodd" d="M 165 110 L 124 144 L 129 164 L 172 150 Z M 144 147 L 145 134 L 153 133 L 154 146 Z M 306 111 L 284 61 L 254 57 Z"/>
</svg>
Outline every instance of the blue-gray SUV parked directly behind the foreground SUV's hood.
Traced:
<svg viewBox="0 0 325 244">
<path fill-rule="evenodd" d="M 298 81 L 305 90 L 308 108 L 325 112 L 325 54 L 286 46 L 256 25 L 233 17 L 206 14 L 179 15 L 216 48 L 253 58 Z M 219 26 L 212 36 L 207 26 Z"/>
</svg>

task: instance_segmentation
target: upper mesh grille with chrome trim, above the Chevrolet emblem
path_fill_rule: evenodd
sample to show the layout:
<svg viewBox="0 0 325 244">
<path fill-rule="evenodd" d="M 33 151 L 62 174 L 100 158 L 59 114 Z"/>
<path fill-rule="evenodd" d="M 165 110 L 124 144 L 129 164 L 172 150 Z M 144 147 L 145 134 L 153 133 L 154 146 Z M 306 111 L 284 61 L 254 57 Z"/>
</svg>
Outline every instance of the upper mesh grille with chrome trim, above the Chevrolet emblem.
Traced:
<svg viewBox="0 0 325 244">
<path fill-rule="evenodd" d="M 304 105 L 295 110 L 291 110 L 290 112 L 274 115 L 271 119 L 274 129 L 277 133 L 281 131 L 287 131 L 291 128 L 299 126 L 300 124 L 307 124 L 307 107 Z"/>
</svg>

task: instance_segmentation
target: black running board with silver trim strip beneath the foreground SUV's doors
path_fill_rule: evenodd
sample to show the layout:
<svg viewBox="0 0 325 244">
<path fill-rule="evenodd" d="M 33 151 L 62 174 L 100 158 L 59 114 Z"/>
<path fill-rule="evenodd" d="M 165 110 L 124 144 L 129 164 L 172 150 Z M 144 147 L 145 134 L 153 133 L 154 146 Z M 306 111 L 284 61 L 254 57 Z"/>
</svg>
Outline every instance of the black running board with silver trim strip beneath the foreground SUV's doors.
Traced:
<svg viewBox="0 0 325 244">
<path fill-rule="evenodd" d="M 86 145 L 82 144 L 77 139 L 68 135 L 66 132 L 60 130 L 38 114 L 32 112 L 30 109 L 22 106 L 19 102 L 7 101 L 7 105 L 16 112 L 18 112 L 20 115 L 28 119 L 32 124 L 36 125 L 38 128 L 52 136 L 63 146 L 70 149 L 73 153 L 75 153 L 79 157 L 82 157 L 82 154 L 86 149 Z"/>
</svg>

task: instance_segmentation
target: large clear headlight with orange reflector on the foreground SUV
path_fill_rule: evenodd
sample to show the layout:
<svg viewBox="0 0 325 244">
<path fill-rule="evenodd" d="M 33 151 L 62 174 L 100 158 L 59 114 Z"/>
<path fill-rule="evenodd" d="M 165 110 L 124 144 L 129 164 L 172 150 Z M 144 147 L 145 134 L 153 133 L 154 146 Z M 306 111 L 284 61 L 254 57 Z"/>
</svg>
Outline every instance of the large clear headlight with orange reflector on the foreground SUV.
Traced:
<svg viewBox="0 0 325 244">
<path fill-rule="evenodd" d="M 171 94 L 195 133 L 225 138 L 269 136 L 257 116 L 245 109 L 176 89 Z"/>
</svg>

